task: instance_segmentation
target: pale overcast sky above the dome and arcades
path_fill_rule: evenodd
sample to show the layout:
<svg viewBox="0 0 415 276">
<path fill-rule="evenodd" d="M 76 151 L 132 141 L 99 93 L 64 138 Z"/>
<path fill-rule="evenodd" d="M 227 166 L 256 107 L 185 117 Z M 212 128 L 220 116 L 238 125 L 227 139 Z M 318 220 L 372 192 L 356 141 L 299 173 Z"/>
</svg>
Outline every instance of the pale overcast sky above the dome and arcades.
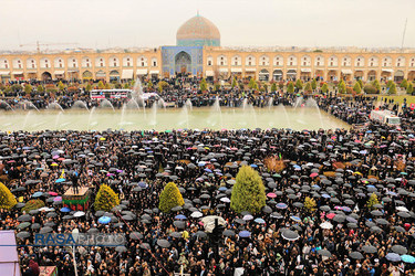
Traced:
<svg viewBox="0 0 415 276">
<path fill-rule="evenodd" d="M 224 46 L 401 46 L 407 18 L 415 47 L 415 0 L 0 0 L 0 50 L 175 45 L 197 10 Z"/>
</svg>

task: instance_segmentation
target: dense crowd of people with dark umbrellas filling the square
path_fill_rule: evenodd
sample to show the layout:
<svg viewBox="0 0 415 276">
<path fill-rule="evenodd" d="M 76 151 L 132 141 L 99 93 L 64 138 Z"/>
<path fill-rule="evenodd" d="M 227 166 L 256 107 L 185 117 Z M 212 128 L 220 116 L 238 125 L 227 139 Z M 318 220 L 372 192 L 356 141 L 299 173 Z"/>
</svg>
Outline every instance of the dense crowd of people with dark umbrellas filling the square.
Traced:
<svg viewBox="0 0 415 276">
<path fill-rule="evenodd" d="M 208 95 L 172 100 L 210 105 Z M 293 95 L 229 95 L 221 105 L 249 98 L 261 106 L 269 97 L 297 103 Z M 0 230 L 15 230 L 23 275 L 39 275 L 43 266 L 74 275 L 74 258 L 79 275 L 414 275 L 414 110 L 406 102 L 374 97 L 325 95 L 315 102 L 364 128 L 0 132 L 0 178 L 20 201 L 0 210 Z M 374 108 L 394 110 L 401 126 L 370 123 Z M 267 158 L 283 166 L 271 168 Z M 259 213 L 230 208 L 243 166 L 266 187 Z M 81 216 L 61 211 L 59 198 L 74 182 L 90 190 L 91 203 L 108 184 L 121 205 L 104 213 L 91 204 Z M 159 194 L 168 182 L 185 204 L 163 213 Z M 371 205 L 373 194 L 378 202 Z M 22 227 L 21 209 L 33 198 L 48 208 L 30 212 Z M 305 206 L 305 198 L 315 208 Z M 103 215 L 111 222 L 98 222 Z M 208 215 L 225 220 L 218 251 L 201 223 Z M 38 232 L 74 229 L 125 234 L 127 243 L 79 246 L 74 255 L 68 246 L 30 246 Z"/>
</svg>

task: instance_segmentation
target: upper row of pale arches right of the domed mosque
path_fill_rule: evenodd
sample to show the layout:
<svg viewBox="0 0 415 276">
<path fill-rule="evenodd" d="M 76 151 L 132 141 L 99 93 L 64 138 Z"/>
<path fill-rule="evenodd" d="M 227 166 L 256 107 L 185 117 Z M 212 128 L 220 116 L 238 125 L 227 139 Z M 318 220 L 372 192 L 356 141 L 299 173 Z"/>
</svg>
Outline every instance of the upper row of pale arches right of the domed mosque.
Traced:
<svg viewBox="0 0 415 276">
<path fill-rule="evenodd" d="M 230 64 L 229 64 L 230 62 Z M 259 57 L 256 57 L 255 55 L 248 55 L 245 57 L 245 60 L 240 55 L 234 55 L 230 59 L 226 55 L 219 55 L 216 57 L 216 61 L 212 56 L 207 57 L 207 65 L 219 65 L 219 66 L 268 66 L 271 63 L 271 59 L 268 55 L 261 55 Z M 287 59 L 284 59 L 282 55 L 276 55 L 272 57 L 272 65 L 273 66 L 342 66 L 342 67 L 404 67 L 406 66 L 406 57 L 405 56 L 398 56 L 395 60 L 393 60 L 391 56 L 384 56 L 384 57 L 377 57 L 377 56 L 371 56 L 369 59 L 365 59 L 364 56 L 357 56 L 354 60 L 346 55 L 342 57 L 338 57 L 335 55 L 330 56 L 325 59 L 323 55 L 317 55 L 313 59 L 310 55 L 303 55 L 300 59 L 295 55 L 290 55 Z M 415 56 L 408 59 L 408 66 L 415 67 Z"/>
</svg>

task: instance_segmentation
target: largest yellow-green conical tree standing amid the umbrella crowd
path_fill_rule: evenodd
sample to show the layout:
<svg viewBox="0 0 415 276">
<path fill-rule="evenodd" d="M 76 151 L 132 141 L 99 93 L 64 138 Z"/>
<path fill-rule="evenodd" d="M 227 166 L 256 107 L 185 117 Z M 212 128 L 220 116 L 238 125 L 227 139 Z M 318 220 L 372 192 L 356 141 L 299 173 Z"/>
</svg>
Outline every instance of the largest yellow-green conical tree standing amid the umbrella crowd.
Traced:
<svg viewBox="0 0 415 276">
<path fill-rule="evenodd" d="M 256 170 L 249 166 L 239 169 L 230 198 L 230 208 L 238 213 L 260 212 L 266 205 L 266 188 Z"/>
</svg>

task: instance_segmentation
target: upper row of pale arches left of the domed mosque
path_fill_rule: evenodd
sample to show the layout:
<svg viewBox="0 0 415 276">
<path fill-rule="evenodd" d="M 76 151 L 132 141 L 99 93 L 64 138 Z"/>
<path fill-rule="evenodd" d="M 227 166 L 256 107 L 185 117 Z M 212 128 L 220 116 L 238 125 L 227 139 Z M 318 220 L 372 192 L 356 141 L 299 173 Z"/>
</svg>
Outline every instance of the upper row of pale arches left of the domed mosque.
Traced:
<svg viewBox="0 0 415 276">
<path fill-rule="evenodd" d="M 148 60 L 146 56 L 139 56 L 137 59 L 133 59 L 132 56 L 124 56 L 122 60 L 120 60 L 116 56 L 111 56 L 108 59 L 105 59 L 103 56 L 97 56 L 95 59 L 91 59 L 89 56 L 84 56 L 81 60 L 77 57 L 69 57 L 64 59 L 61 56 L 58 56 L 55 59 L 49 59 L 49 57 L 42 57 L 39 61 L 29 57 L 25 61 L 22 59 L 13 59 L 13 60 L 8 60 L 8 59 L 0 59 L 0 70 L 7 70 L 7 68 L 23 68 L 25 67 L 27 70 L 31 68 L 64 68 L 64 67 L 83 67 L 83 68 L 91 68 L 93 66 L 95 67 L 147 67 L 147 66 L 153 66 L 156 67 L 158 66 L 158 60 L 157 57 L 152 57 Z"/>
</svg>

